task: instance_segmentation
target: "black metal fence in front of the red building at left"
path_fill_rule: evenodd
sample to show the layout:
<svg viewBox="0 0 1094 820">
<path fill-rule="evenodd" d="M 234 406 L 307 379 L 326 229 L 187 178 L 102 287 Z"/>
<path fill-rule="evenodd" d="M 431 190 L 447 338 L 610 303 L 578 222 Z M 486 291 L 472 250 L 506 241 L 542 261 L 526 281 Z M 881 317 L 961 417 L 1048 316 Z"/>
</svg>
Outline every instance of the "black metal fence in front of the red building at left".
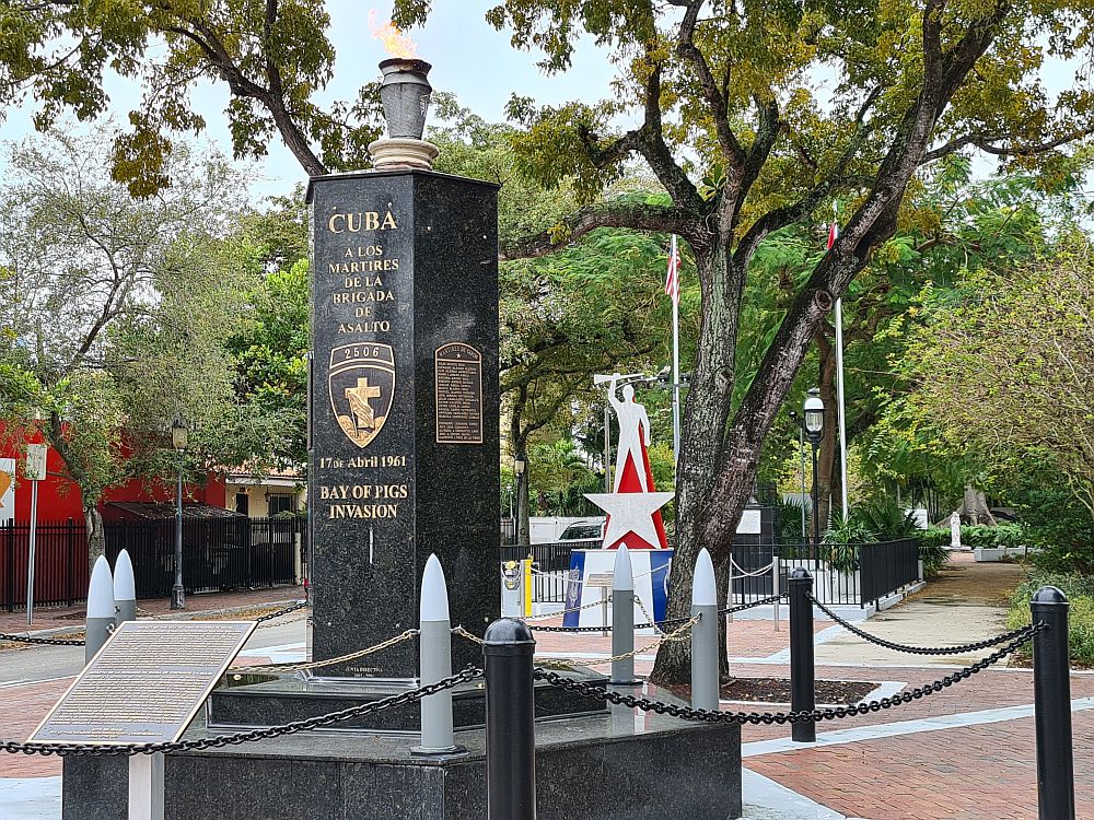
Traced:
<svg viewBox="0 0 1094 820">
<path fill-rule="evenodd" d="M 110 522 L 104 526 L 113 565 L 125 549 L 138 598 L 166 598 L 174 581 L 175 523 Z M 183 518 L 183 583 L 188 593 L 254 589 L 301 582 L 304 517 Z M 0 526 L 0 608 L 26 606 L 30 526 Z M 73 606 L 86 597 L 88 535 L 82 519 L 45 522 L 35 537 L 36 606 Z"/>
</svg>

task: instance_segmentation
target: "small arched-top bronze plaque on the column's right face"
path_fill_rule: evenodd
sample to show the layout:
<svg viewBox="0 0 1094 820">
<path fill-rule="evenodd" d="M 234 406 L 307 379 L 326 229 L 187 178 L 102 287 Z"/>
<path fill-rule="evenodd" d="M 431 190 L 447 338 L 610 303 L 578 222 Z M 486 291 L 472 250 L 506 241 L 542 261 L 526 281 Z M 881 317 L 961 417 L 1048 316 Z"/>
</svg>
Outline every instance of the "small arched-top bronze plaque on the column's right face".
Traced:
<svg viewBox="0 0 1094 820">
<path fill-rule="evenodd" d="M 433 355 L 437 443 L 482 444 L 482 354 L 449 342 Z"/>
</svg>

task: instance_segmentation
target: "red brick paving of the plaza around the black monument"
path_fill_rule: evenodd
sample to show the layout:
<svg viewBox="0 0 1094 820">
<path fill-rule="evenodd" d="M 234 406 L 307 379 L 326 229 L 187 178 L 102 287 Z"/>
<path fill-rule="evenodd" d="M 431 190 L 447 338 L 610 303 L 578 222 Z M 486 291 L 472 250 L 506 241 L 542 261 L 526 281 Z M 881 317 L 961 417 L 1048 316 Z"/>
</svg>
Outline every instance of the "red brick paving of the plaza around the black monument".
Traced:
<svg viewBox="0 0 1094 820">
<path fill-rule="evenodd" d="M 864 625 L 869 631 L 870 623 Z M 829 621 L 817 621 L 815 630 L 818 642 L 846 637 Z M 962 642 L 961 631 L 958 621 L 947 634 L 924 634 L 918 643 Z M 770 621 L 738 619 L 729 625 L 728 635 L 734 675 L 789 676 L 785 623 L 782 631 L 775 632 Z M 649 639 L 638 637 L 637 642 L 642 646 Z M 302 645 L 299 651 L 303 651 Z M 610 654 L 610 640 L 596 634 L 540 633 L 538 651 L 547 656 L 592 655 L 595 659 Z M 640 673 L 649 672 L 652 653 L 639 658 L 636 667 Z M 889 693 L 950 671 L 923 666 L 917 656 L 895 656 L 880 665 L 818 666 L 817 677 L 873 681 Z M 69 681 L 0 688 L 0 737 L 25 737 Z M 1072 699 L 1094 699 L 1094 672 L 1072 676 Z M 897 708 L 821 724 L 816 746 L 788 742 L 790 729 L 785 726 L 746 726 L 744 763 L 851 818 L 1029 820 L 1036 817 L 1036 763 L 1033 718 L 1023 707 L 1032 703 L 1029 670 L 993 667 Z M 1090 708 L 1094 700 L 1081 705 L 1085 711 L 1073 715 L 1078 816 L 1094 817 L 1094 708 Z M 1000 712 L 1003 707 L 1017 708 Z M 758 704 L 746 708 L 782 707 Z M 924 723 L 928 718 L 931 722 Z M 871 729 L 860 731 L 863 727 Z M 0 758 L 0 777 L 58 772 L 59 764 L 51 759 Z"/>
</svg>

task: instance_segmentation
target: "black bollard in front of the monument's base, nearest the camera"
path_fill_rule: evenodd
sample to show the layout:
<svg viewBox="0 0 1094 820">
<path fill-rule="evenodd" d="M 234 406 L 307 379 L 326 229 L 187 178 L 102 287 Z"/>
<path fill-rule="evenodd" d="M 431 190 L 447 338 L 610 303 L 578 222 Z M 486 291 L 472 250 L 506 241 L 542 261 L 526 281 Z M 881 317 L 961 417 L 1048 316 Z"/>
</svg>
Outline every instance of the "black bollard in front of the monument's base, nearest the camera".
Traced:
<svg viewBox="0 0 1094 820">
<path fill-rule="evenodd" d="M 536 641 L 528 625 L 515 618 L 494 621 L 484 639 L 487 820 L 535 820 Z"/>
</svg>

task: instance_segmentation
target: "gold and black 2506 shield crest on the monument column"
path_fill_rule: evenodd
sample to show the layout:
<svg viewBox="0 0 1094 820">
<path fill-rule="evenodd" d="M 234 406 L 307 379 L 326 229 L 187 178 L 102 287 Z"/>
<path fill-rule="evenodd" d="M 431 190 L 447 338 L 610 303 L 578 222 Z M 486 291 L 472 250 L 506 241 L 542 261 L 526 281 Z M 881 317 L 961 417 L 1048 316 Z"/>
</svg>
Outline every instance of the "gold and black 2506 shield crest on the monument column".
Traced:
<svg viewBox="0 0 1094 820">
<path fill-rule="evenodd" d="M 335 348 L 327 385 L 338 426 L 358 447 L 368 447 L 392 409 L 395 351 L 374 342 Z"/>
</svg>

